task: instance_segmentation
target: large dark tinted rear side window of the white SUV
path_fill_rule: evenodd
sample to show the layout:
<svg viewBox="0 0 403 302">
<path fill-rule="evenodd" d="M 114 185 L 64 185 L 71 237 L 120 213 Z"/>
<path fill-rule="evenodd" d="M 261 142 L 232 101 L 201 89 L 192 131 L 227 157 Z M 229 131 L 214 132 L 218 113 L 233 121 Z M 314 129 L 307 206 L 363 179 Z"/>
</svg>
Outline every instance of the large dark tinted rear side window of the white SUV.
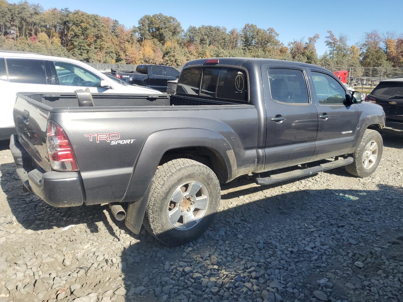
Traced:
<svg viewBox="0 0 403 302">
<path fill-rule="evenodd" d="M 6 63 L 10 82 L 47 84 L 44 60 L 7 58 Z"/>
</svg>

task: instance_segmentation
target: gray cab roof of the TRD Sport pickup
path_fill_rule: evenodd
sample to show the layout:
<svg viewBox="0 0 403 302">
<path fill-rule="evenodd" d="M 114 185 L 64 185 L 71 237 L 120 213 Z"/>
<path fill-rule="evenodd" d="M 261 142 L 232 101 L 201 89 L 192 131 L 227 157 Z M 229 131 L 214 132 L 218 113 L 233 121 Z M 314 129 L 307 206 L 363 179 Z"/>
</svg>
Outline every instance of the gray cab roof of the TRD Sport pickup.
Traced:
<svg viewBox="0 0 403 302">
<path fill-rule="evenodd" d="M 187 62 L 184 66 L 193 66 L 193 65 L 203 65 L 208 59 L 217 59 L 219 60 L 218 65 L 232 65 L 232 66 L 254 66 L 260 68 L 262 64 L 272 64 L 272 65 L 283 65 L 283 66 L 305 66 L 312 67 L 322 70 L 327 70 L 323 67 L 316 66 L 313 64 L 301 63 L 301 62 L 293 62 L 293 61 L 285 61 L 285 60 L 275 60 L 275 59 L 264 59 L 264 58 L 204 58 L 191 60 Z M 214 66 L 213 64 L 206 64 L 206 66 Z"/>
</svg>

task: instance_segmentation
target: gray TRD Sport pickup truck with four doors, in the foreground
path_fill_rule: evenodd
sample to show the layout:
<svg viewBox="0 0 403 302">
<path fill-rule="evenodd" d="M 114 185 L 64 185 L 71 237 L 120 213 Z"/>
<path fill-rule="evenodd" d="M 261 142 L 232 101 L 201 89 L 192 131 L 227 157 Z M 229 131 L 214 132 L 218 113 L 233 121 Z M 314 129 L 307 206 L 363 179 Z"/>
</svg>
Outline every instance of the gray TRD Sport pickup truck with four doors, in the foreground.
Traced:
<svg viewBox="0 0 403 302">
<path fill-rule="evenodd" d="M 134 233 L 145 225 L 183 244 L 207 230 L 220 183 L 238 176 L 266 185 L 341 166 L 370 176 L 385 115 L 362 101 L 318 66 L 200 59 L 171 96 L 19 93 L 10 150 L 24 189 L 50 205 L 109 203 Z"/>
</svg>

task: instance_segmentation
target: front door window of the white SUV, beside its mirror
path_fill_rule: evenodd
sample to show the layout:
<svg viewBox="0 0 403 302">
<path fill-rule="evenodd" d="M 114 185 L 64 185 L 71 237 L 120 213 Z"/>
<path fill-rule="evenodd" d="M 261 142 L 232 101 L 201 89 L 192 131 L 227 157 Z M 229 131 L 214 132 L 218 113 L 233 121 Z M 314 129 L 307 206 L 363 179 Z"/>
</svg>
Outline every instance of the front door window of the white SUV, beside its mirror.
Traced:
<svg viewBox="0 0 403 302">
<path fill-rule="evenodd" d="M 100 87 L 101 78 L 75 64 L 54 62 L 59 84 L 64 86 Z"/>
</svg>

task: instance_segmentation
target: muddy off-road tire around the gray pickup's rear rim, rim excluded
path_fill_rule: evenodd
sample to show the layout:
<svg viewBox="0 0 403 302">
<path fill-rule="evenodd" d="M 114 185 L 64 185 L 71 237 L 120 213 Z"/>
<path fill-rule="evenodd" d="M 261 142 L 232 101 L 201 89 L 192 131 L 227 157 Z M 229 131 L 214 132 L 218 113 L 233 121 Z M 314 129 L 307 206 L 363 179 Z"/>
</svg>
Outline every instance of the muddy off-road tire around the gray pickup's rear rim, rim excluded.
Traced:
<svg viewBox="0 0 403 302">
<path fill-rule="evenodd" d="M 202 182 L 209 195 L 203 218 L 190 230 L 172 228 L 168 221 L 168 204 L 174 190 L 188 180 Z M 167 245 L 181 245 L 199 238 L 210 227 L 220 203 L 220 184 L 216 174 L 206 165 L 192 159 L 173 159 L 158 167 L 148 197 L 143 225 Z"/>
</svg>

